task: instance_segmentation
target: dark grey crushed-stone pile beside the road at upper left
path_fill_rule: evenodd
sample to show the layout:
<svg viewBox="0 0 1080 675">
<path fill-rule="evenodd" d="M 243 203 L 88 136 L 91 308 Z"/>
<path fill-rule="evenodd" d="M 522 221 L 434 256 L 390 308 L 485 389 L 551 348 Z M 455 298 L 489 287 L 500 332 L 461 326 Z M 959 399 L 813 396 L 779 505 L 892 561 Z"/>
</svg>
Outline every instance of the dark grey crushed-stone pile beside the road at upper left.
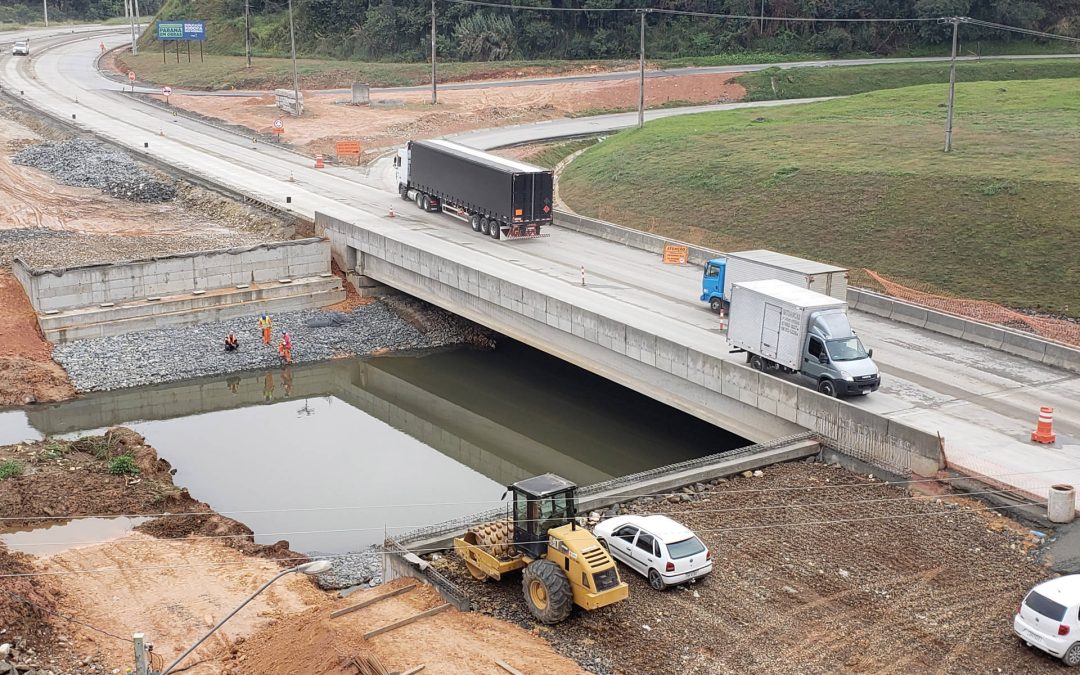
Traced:
<svg viewBox="0 0 1080 675">
<path fill-rule="evenodd" d="M 131 202 L 167 202 L 176 197 L 172 184 L 150 175 L 127 154 L 83 138 L 30 146 L 12 161 L 40 168 L 64 185 L 98 188 Z"/>
</svg>

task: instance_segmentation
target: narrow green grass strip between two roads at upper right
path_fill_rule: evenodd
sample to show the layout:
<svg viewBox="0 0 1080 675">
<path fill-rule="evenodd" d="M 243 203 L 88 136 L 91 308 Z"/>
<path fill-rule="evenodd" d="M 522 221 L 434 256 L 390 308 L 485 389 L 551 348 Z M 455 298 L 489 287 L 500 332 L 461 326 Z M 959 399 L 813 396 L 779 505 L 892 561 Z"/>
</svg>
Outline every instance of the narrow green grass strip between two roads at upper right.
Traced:
<svg viewBox="0 0 1080 675">
<path fill-rule="evenodd" d="M 957 64 L 958 82 L 1080 77 L 1080 58 L 983 60 Z M 850 96 L 882 89 L 948 82 L 948 64 L 881 64 L 829 68 L 769 68 L 735 78 L 746 100 Z"/>
</svg>

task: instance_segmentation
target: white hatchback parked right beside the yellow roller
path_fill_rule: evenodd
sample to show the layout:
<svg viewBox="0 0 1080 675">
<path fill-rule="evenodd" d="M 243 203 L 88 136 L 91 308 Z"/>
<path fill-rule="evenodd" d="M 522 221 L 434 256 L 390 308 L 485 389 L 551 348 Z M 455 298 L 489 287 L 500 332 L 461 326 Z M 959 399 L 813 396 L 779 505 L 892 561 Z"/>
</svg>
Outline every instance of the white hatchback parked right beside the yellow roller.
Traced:
<svg viewBox="0 0 1080 675">
<path fill-rule="evenodd" d="M 713 554 L 692 531 L 665 515 L 619 515 L 593 528 L 620 563 L 642 572 L 658 591 L 713 571 Z"/>
</svg>

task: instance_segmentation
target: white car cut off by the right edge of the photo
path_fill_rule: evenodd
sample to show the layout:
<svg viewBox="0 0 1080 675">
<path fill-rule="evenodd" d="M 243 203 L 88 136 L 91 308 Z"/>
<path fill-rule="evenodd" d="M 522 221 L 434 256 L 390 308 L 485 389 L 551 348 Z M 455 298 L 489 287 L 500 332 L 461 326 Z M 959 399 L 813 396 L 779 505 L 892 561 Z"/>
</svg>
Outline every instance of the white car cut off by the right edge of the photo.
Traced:
<svg viewBox="0 0 1080 675">
<path fill-rule="evenodd" d="M 1013 618 L 1013 631 L 1029 647 L 1080 665 L 1080 575 L 1044 581 L 1031 589 Z"/>
</svg>

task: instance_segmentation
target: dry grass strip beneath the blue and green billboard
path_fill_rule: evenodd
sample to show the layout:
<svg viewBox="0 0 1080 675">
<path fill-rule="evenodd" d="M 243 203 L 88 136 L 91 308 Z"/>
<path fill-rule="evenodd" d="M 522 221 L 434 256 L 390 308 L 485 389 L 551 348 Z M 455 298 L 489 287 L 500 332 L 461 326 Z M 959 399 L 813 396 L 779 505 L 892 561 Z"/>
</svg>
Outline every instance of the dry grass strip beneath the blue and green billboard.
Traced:
<svg viewBox="0 0 1080 675">
<path fill-rule="evenodd" d="M 205 54 L 199 62 L 199 53 L 191 55 L 188 63 L 187 51 L 181 48 L 180 63 L 176 63 L 176 52 L 166 53 L 162 63 L 161 52 L 144 50 L 138 56 L 124 54 L 119 60 L 123 70 L 134 70 L 143 82 L 157 82 L 171 86 L 193 90 L 227 89 L 273 89 L 293 86 L 293 64 L 288 58 L 260 57 L 252 59 L 252 67 L 245 68 L 243 56 Z M 517 77 L 542 77 L 580 71 L 591 66 L 597 69 L 625 68 L 631 62 L 490 62 L 490 63 L 445 63 L 438 65 L 440 82 L 455 80 L 485 80 Z M 302 89 L 337 89 L 353 82 L 366 82 L 372 86 L 411 86 L 431 82 L 429 64 L 365 63 L 354 60 L 297 59 L 297 72 Z"/>
</svg>

